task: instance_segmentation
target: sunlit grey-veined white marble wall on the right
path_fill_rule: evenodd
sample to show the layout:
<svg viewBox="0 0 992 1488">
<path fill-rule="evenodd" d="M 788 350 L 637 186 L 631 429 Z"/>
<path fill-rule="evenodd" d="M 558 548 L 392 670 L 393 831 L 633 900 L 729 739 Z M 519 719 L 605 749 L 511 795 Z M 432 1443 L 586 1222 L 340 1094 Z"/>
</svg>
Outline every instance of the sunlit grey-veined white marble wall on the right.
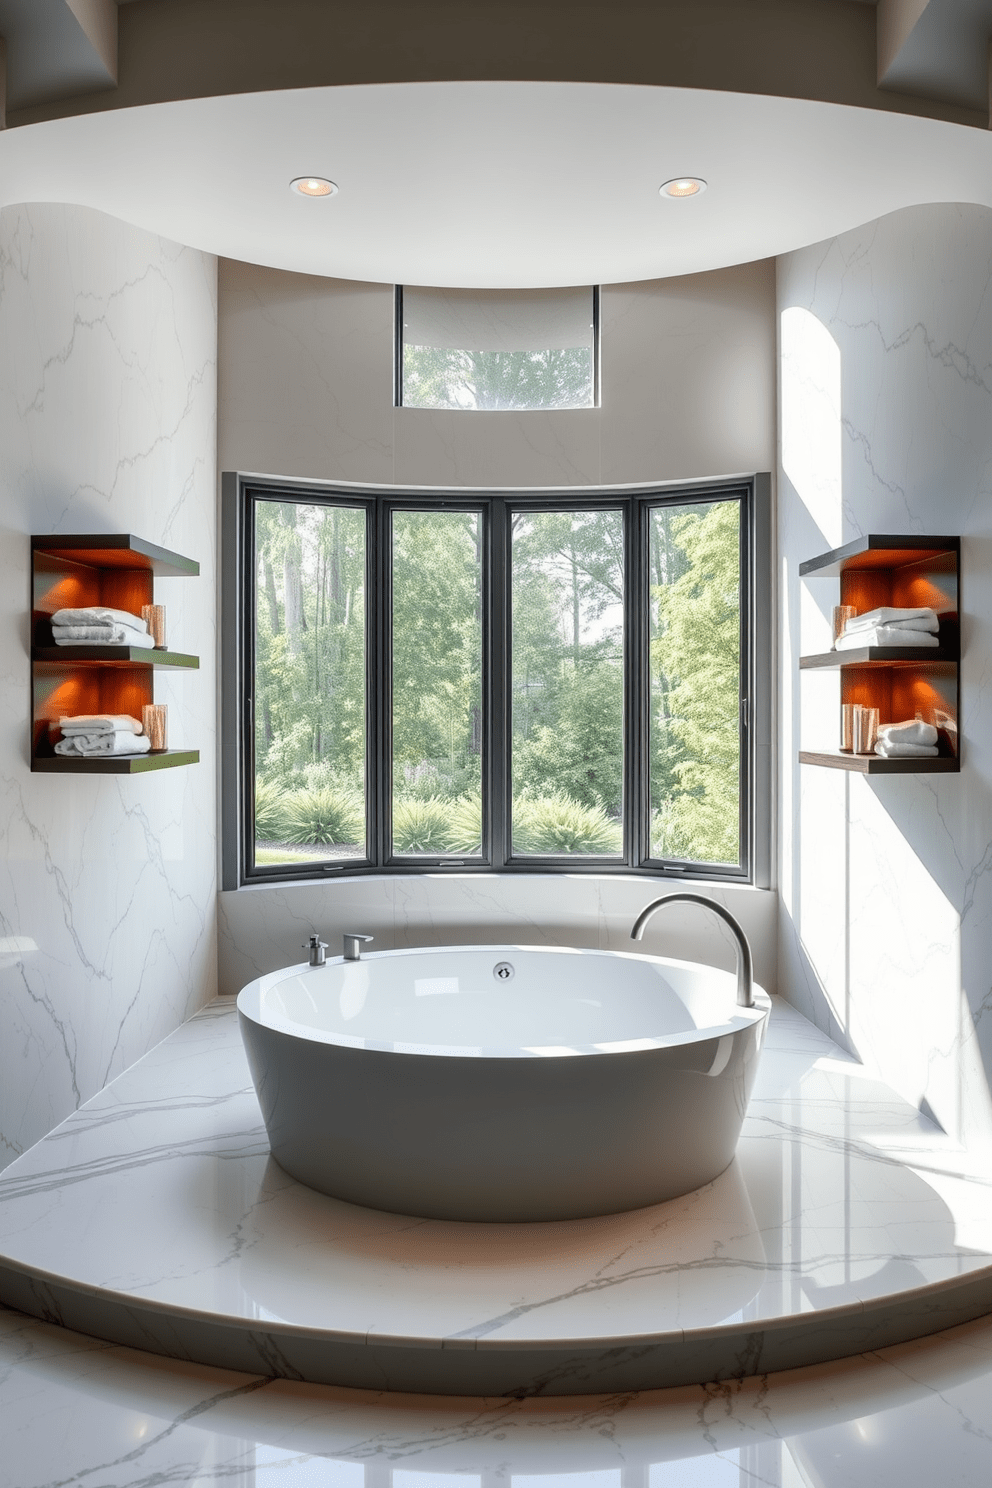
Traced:
<svg viewBox="0 0 992 1488">
<path fill-rule="evenodd" d="M 894 213 L 779 263 L 779 985 L 970 1149 L 992 1144 L 992 213 Z M 961 534 L 959 775 L 796 763 L 836 729 L 821 650 L 861 533 Z M 830 738 L 830 735 L 828 735 Z"/>
</svg>

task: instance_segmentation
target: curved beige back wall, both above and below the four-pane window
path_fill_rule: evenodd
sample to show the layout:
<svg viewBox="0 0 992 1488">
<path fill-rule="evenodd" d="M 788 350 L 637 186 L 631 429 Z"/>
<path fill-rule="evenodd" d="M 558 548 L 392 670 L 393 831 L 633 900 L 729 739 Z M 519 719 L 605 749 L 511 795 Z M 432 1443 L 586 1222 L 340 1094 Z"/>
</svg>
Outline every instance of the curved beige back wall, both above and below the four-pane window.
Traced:
<svg viewBox="0 0 992 1488">
<path fill-rule="evenodd" d="M 473 414 L 393 408 L 393 290 L 220 260 L 225 470 L 384 485 L 586 487 L 770 470 L 770 260 L 602 289 L 602 406 Z M 628 949 L 657 879 L 507 875 L 350 879 L 220 894 L 220 988 L 297 961 L 311 929 L 394 945 L 519 937 Z M 776 896 L 715 890 L 775 982 Z M 729 933 L 681 906 L 648 949 L 732 969 Z"/>
</svg>

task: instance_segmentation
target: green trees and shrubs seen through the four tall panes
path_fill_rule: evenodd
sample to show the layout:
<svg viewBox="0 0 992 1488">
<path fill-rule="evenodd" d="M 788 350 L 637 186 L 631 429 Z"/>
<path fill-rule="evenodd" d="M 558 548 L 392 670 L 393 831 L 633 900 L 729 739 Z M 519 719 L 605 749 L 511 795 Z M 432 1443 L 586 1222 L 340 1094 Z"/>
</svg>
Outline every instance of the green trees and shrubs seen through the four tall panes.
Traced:
<svg viewBox="0 0 992 1488">
<path fill-rule="evenodd" d="M 482 534 L 393 513 L 393 847 L 482 844 Z M 259 501 L 256 860 L 364 854 L 364 512 Z M 518 512 L 512 833 L 522 854 L 617 856 L 623 815 L 619 510 Z M 739 860 L 739 504 L 650 512 L 651 851 Z"/>
</svg>

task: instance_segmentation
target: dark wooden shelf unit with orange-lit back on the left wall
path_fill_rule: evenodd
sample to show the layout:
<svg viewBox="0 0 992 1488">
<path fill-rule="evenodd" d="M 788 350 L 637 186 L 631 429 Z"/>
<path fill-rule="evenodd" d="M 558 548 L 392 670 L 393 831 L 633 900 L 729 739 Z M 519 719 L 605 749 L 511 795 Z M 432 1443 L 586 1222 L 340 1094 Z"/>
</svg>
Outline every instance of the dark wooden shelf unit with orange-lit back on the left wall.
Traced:
<svg viewBox="0 0 992 1488">
<path fill-rule="evenodd" d="M 129 713 L 141 717 L 155 701 L 156 671 L 199 667 L 184 652 L 140 646 L 55 646 L 55 610 L 106 604 L 141 613 L 153 603 L 156 577 L 195 577 L 199 564 L 146 543 L 129 533 L 31 539 L 31 769 L 58 775 L 140 775 L 152 769 L 195 765 L 199 750 L 155 750 L 147 754 L 95 759 L 55 753 L 58 720 L 76 713 Z"/>
</svg>

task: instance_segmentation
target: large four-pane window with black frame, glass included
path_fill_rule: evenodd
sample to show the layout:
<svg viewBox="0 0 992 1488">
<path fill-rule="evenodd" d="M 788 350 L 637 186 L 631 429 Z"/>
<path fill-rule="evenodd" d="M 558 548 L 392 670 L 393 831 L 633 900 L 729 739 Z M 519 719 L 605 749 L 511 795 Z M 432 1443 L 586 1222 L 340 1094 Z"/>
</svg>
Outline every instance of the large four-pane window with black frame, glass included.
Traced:
<svg viewBox="0 0 992 1488">
<path fill-rule="evenodd" d="M 567 498 L 225 482 L 228 887 L 760 878 L 756 481 Z"/>
</svg>

